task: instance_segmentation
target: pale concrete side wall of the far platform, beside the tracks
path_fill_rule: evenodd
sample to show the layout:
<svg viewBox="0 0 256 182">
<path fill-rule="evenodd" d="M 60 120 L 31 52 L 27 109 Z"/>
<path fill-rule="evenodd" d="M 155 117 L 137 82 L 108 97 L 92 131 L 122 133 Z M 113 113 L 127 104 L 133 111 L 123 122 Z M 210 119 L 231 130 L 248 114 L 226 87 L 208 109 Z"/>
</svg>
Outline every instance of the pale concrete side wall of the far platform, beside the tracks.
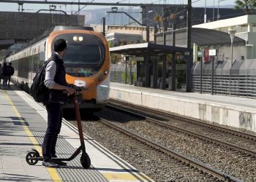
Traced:
<svg viewBox="0 0 256 182">
<path fill-rule="evenodd" d="M 110 98 L 256 132 L 256 110 L 172 95 L 110 88 Z"/>
</svg>

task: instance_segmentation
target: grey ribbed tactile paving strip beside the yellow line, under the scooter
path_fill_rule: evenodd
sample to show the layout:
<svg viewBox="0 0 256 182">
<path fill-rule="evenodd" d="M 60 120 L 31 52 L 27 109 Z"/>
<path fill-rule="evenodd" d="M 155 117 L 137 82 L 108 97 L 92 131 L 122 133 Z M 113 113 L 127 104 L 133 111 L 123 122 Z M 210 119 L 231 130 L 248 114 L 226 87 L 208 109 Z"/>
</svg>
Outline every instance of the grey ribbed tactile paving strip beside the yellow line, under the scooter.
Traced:
<svg viewBox="0 0 256 182">
<path fill-rule="evenodd" d="M 10 91 L 9 94 L 12 102 L 15 104 L 15 107 L 20 112 L 20 115 L 23 116 L 23 119 L 29 125 L 29 130 L 37 138 L 39 145 L 42 145 L 43 138 L 45 136 L 45 130 L 47 127 L 47 122 L 37 114 L 37 111 L 34 108 L 31 108 L 22 98 L 15 94 L 15 92 Z M 66 141 L 64 138 L 59 135 L 56 152 L 58 157 L 70 157 L 75 149 Z M 25 159 L 24 159 L 25 160 Z M 37 165 L 41 165 L 42 162 L 38 162 Z M 67 167 L 61 167 L 57 169 L 62 181 L 88 181 L 88 182 L 101 182 L 108 181 L 105 179 L 101 173 L 93 168 L 85 170 L 80 164 L 80 155 L 68 162 Z"/>
</svg>

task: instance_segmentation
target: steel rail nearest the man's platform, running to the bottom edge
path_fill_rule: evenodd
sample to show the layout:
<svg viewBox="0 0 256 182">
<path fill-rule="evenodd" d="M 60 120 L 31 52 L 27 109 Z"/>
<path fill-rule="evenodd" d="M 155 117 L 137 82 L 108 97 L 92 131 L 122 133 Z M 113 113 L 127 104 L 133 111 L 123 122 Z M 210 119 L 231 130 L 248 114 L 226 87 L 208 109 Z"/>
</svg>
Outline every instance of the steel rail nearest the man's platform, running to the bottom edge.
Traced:
<svg viewBox="0 0 256 182">
<path fill-rule="evenodd" d="M 227 175 L 225 173 L 222 173 L 218 170 L 215 170 L 214 168 L 209 167 L 208 165 L 205 165 L 201 162 L 197 162 L 194 159 L 190 159 L 189 157 L 184 156 L 183 154 L 179 154 L 176 151 L 173 151 L 171 149 L 168 149 L 165 146 L 160 145 L 159 143 L 156 143 L 154 141 L 148 140 L 148 138 L 145 138 L 141 135 L 138 135 L 135 132 L 129 131 L 127 129 L 124 129 L 122 127 L 118 127 L 116 124 L 113 124 L 112 122 L 109 122 L 106 119 L 101 118 L 101 122 L 108 127 L 114 128 L 115 130 L 118 130 L 126 135 L 129 135 L 132 138 L 135 138 L 136 140 L 145 143 L 147 146 L 151 146 L 152 148 L 159 150 L 171 157 L 174 157 L 175 159 L 186 163 L 189 166 L 196 167 L 198 170 L 203 170 L 203 172 L 208 173 L 209 175 L 212 175 L 216 178 L 221 179 L 222 181 L 240 181 L 237 178 L 234 178 L 231 175 Z"/>
</svg>

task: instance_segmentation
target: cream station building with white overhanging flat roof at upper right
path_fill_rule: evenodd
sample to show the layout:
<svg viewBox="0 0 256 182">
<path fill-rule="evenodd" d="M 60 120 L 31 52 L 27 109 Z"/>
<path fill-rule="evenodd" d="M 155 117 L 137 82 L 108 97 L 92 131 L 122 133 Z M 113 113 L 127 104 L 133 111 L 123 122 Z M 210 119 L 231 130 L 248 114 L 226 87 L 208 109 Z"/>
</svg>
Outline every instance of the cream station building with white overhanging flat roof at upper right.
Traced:
<svg viewBox="0 0 256 182">
<path fill-rule="evenodd" d="M 193 25 L 193 28 L 208 28 L 217 31 L 228 32 L 228 30 L 236 30 L 235 36 L 244 39 L 245 45 L 236 45 L 233 47 L 233 60 L 248 60 L 256 58 L 256 15 L 244 15 L 233 17 L 225 20 L 217 20 L 214 22 Z M 230 44 L 217 48 L 217 60 L 230 60 Z M 194 49 L 196 49 L 194 47 Z"/>
</svg>

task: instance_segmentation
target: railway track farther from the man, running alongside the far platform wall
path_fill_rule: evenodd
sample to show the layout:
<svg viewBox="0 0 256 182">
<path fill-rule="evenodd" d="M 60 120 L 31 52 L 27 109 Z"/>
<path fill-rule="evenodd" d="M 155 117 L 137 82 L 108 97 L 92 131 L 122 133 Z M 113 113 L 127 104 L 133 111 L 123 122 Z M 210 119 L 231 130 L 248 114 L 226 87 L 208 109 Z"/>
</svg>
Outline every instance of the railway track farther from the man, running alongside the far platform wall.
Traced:
<svg viewBox="0 0 256 182">
<path fill-rule="evenodd" d="M 200 140 L 214 143 L 219 146 L 224 146 L 229 149 L 251 155 L 252 157 L 256 157 L 255 135 L 206 122 L 197 121 L 195 119 L 188 119 L 186 117 L 181 117 L 174 114 L 162 113 L 148 108 L 141 108 L 138 106 L 129 105 L 127 103 L 121 103 L 116 100 L 111 100 L 108 107 L 144 117 L 148 122 L 153 122 L 154 124 L 158 124 L 162 127 L 200 138 Z M 197 130 L 191 131 L 191 128 L 195 127 L 197 127 Z M 211 136 L 208 136 L 209 133 L 211 133 Z M 220 137 L 216 138 L 216 136 Z M 226 141 L 222 140 L 223 138 L 225 138 Z M 237 143 L 237 141 L 239 141 L 241 145 L 234 144 Z"/>
</svg>

